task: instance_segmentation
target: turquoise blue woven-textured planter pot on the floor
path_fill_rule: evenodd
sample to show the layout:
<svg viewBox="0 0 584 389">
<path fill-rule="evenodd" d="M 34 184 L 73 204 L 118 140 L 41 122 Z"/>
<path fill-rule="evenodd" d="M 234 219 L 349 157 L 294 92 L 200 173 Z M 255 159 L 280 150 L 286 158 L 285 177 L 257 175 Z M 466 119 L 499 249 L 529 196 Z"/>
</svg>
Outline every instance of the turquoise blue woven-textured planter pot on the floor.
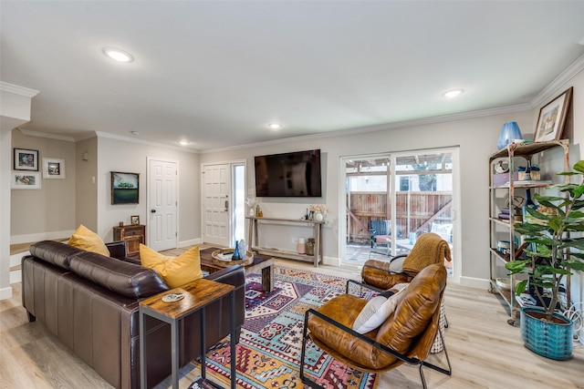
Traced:
<svg viewBox="0 0 584 389">
<path fill-rule="evenodd" d="M 535 314 L 535 316 L 534 316 Z M 521 337 L 526 347 L 549 359 L 563 361 L 572 355 L 574 323 L 561 314 L 554 313 L 562 323 L 545 322 L 541 307 L 521 308 Z"/>
</svg>

